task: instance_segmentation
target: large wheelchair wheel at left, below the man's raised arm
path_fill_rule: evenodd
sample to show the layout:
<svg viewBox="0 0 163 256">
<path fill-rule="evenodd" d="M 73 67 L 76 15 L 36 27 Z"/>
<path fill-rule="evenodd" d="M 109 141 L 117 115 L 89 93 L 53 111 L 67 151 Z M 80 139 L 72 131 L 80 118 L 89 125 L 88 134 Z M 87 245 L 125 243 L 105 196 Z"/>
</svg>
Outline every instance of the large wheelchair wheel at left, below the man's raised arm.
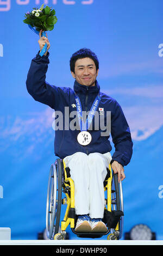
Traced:
<svg viewBox="0 0 163 256">
<path fill-rule="evenodd" d="M 46 231 L 48 239 L 58 233 L 62 199 L 62 167 L 59 159 L 51 165 L 46 203 Z"/>
</svg>

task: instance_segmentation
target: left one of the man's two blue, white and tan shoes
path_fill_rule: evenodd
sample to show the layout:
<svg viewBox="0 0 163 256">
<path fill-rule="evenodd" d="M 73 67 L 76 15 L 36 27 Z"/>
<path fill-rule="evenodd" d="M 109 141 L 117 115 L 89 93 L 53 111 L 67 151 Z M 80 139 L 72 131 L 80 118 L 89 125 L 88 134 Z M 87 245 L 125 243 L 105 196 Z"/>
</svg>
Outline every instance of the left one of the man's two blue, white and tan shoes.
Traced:
<svg viewBox="0 0 163 256">
<path fill-rule="evenodd" d="M 80 215 L 77 220 L 76 232 L 90 233 L 92 231 L 90 217 L 88 215 Z"/>
</svg>

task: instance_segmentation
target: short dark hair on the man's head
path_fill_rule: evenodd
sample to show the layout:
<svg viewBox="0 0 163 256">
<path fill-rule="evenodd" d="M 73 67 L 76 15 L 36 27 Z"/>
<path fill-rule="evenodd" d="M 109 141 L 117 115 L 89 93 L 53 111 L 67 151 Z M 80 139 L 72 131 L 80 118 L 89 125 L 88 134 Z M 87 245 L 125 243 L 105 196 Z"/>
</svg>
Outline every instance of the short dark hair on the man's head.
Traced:
<svg viewBox="0 0 163 256">
<path fill-rule="evenodd" d="M 96 65 L 96 71 L 99 69 L 99 62 L 96 54 L 92 52 L 90 49 L 82 48 L 78 50 L 77 52 L 72 54 L 72 57 L 70 59 L 70 70 L 74 72 L 74 67 L 76 64 L 77 59 L 83 59 L 83 58 L 90 58 L 95 62 Z"/>
</svg>

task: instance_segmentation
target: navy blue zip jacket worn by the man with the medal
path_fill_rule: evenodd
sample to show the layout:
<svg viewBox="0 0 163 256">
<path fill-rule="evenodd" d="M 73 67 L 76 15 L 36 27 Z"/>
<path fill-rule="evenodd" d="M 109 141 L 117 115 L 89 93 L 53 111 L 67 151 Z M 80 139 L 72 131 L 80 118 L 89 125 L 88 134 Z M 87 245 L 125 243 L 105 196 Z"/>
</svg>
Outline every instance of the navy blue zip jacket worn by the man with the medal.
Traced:
<svg viewBox="0 0 163 256">
<path fill-rule="evenodd" d="M 39 52 L 32 59 L 27 76 L 27 90 L 36 101 L 42 102 L 55 111 L 65 113 L 65 107 L 69 107 L 70 112 L 75 111 L 72 105 L 76 104 L 73 90 L 68 87 L 51 86 L 46 82 L 46 72 L 49 64 L 49 52 L 47 56 L 40 56 Z M 93 87 L 87 87 L 74 82 L 74 92 L 79 96 L 83 111 L 90 111 L 93 101 L 100 88 L 96 80 Z M 133 153 L 133 142 L 131 141 L 130 129 L 126 118 L 124 117 L 121 106 L 112 97 L 101 93 L 101 101 L 98 108 L 104 108 L 104 112 L 111 111 L 111 137 L 115 145 L 115 153 L 112 159 L 126 166 Z M 97 109 L 98 111 L 98 109 Z M 70 118 L 71 120 L 71 118 Z M 93 123 L 92 123 L 93 128 Z M 57 130 L 55 131 L 54 152 L 55 155 L 64 159 L 67 155 L 76 152 L 90 153 L 107 153 L 111 151 L 109 136 L 101 136 L 101 130 L 89 131 L 92 141 L 87 146 L 82 146 L 77 142 L 79 130 Z"/>
</svg>

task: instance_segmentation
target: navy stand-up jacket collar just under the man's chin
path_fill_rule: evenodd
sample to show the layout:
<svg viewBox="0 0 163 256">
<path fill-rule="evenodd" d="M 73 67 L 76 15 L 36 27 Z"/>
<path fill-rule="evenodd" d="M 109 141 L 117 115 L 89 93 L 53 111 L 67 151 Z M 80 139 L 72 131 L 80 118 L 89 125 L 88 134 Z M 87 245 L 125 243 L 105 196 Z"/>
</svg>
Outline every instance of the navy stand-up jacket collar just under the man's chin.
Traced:
<svg viewBox="0 0 163 256">
<path fill-rule="evenodd" d="M 91 87 L 87 87 L 87 86 L 83 86 L 83 84 L 78 83 L 76 80 L 74 81 L 74 92 L 78 93 L 86 93 L 87 92 L 87 88 L 89 89 L 90 93 L 98 93 L 100 90 L 99 84 L 97 82 L 97 80 L 95 81 L 95 86 L 91 86 Z"/>
</svg>

